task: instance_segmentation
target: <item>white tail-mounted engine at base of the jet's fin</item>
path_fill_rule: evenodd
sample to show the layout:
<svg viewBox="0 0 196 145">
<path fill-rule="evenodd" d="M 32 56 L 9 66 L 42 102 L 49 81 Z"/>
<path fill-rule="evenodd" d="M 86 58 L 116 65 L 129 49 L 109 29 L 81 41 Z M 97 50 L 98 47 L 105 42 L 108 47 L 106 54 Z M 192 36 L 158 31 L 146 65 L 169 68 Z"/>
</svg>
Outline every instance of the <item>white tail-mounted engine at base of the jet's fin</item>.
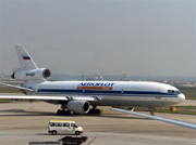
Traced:
<svg viewBox="0 0 196 145">
<path fill-rule="evenodd" d="M 44 81 L 50 77 L 50 70 L 46 68 L 17 70 L 12 74 L 12 78 L 20 81 Z"/>
</svg>

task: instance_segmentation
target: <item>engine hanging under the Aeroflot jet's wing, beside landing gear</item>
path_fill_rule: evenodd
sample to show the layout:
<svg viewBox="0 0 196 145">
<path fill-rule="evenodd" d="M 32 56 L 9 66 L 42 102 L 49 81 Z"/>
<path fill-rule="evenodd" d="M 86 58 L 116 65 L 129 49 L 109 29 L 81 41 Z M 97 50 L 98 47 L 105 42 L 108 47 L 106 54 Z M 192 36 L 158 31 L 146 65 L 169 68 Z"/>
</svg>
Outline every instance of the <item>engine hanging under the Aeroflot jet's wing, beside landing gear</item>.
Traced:
<svg viewBox="0 0 196 145">
<path fill-rule="evenodd" d="M 68 103 L 68 109 L 79 115 L 87 114 L 89 111 L 90 104 L 87 101 L 70 101 Z"/>
</svg>

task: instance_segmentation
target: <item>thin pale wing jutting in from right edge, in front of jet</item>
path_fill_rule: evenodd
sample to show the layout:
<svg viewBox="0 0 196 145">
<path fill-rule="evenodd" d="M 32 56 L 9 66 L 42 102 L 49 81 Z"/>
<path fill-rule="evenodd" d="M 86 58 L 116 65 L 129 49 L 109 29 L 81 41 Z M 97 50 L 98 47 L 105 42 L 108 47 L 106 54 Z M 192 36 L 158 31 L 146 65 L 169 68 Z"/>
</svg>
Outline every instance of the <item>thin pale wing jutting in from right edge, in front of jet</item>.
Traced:
<svg viewBox="0 0 196 145">
<path fill-rule="evenodd" d="M 149 119 L 155 119 L 155 120 L 173 123 L 173 124 L 177 124 L 177 126 L 183 126 L 183 127 L 196 130 L 196 123 L 192 123 L 192 122 L 184 122 L 184 121 L 173 120 L 173 119 L 158 117 L 158 116 L 150 116 L 150 115 L 146 115 L 146 114 L 139 114 L 139 113 L 128 111 L 128 110 L 119 109 L 119 108 L 112 108 L 112 110 L 131 114 L 134 116 L 145 117 L 145 118 L 149 118 Z"/>
</svg>

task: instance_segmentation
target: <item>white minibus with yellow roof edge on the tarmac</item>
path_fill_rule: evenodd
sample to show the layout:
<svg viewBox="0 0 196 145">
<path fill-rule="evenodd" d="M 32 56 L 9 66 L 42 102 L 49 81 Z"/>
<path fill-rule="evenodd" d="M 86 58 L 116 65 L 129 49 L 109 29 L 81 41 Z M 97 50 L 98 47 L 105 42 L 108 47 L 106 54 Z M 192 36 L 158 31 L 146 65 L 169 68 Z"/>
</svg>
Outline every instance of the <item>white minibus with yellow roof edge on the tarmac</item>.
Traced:
<svg viewBox="0 0 196 145">
<path fill-rule="evenodd" d="M 82 127 L 78 127 L 72 120 L 50 120 L 48 132 L 54 134 L 75 134 L 79 135 L 84 132 Z"/>
</svg>

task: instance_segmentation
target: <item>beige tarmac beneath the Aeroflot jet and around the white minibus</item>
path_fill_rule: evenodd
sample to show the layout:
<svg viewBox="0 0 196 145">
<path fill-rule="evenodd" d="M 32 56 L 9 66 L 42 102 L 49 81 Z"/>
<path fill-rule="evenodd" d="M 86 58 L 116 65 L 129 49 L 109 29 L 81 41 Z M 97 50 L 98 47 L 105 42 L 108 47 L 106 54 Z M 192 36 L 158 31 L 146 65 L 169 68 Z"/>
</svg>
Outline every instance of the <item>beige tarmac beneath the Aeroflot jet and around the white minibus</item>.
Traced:
<svg viewBox="0 0 196 145">
<path fill-rule="evenodd" d="M 117 113 L 99 107 L 102 115 L 57 116 L 60 105 L 44 102 L 0 104 L 0 145 L 28 145 L 29 142 L 58 141 L 65 135 L 48 134 L 49 120 L 74 120 L 85 130 L 83 145 L 196 145 L 196 130 Z M 148 113 L 145 113 L 148 114 Z M 196 123 L 194 115 L 156 116 Z"/>
</svg>

